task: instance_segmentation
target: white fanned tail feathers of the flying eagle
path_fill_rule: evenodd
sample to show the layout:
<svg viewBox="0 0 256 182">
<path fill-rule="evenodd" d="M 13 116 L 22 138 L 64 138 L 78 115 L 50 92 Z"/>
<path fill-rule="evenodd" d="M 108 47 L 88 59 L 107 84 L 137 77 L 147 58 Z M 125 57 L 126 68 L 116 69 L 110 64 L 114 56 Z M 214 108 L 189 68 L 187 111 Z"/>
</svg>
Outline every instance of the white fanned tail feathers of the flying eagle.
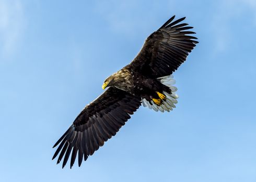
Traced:
<svg viewBox="0 0 256 182">
<path fill-rule="evenodd" d="M 146 99 L 142 100 L 142 105 L 144 107 L 148 107 L 149 109 L 154 109 L 155 111 L 168 111 L 172 110 L 172 108 L 176 108 L 174 104 L 178 103 L 177 99 L 179 96 L 175 93 L 178 89 L 177 87 L 173 86 L 176 81 L 173 79 L 172 75 L 159 77 L 158 80 L 171 89 L 171 94 L 164 92 L 163 94 L 166 95 L 166 100 L 162 100 L 162 104 L 160 106 L 156 105 L 153 100 L 147 101 Z"/>
</svg>

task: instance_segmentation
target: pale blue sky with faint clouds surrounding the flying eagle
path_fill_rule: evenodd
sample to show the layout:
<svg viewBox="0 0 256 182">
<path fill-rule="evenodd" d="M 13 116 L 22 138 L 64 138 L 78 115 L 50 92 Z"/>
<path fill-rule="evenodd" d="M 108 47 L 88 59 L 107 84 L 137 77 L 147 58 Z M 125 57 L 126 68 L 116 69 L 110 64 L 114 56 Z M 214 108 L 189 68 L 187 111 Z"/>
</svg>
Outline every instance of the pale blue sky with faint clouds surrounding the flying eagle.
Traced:
<svg viewBox="0 0 256 182">
<path fill-rule="evenodd" d="M 255 181 L 254 0 L 0 0 L 1 181 Z M 104 79 L 172 15 L 199 44 L 174 73 L 177 108 L 141 107 L 72 170 L 53 144 Z"/>
</svg>

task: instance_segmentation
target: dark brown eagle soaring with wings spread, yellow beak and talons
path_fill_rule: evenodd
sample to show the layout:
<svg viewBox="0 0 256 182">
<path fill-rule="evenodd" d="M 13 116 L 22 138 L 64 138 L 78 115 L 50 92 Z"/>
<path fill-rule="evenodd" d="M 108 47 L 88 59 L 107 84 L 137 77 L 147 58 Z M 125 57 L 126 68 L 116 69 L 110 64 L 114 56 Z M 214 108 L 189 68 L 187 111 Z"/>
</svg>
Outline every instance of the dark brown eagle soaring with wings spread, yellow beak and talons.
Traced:
<svg viewBox="0 0 256 182">
<path fill-rule="evenodd" d="M 130 64 L 109 76 L 102 85 L 107 89 L 89 103 L 73 124 L 53 146 L 57 164 L 62 168 L 71 155 L 72 168 L 78 155 L 78 166 L 94 154 L 104 142 L 114 136 L 141 106 L 155 111 L 175 108 L 178 95 L 172 73 L 183 63 L 198 43 L 188 31 L 185 19 L 171 17 L 157 31 L 150 34 L 138 55 Z"/>
</svg>

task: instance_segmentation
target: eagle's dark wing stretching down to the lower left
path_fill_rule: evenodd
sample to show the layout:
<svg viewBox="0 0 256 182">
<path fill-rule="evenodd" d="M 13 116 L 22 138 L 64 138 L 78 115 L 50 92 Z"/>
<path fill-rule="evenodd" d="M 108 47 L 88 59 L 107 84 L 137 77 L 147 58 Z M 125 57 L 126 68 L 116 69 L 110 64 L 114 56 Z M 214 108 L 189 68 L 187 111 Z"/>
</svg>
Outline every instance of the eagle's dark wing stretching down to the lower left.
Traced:
<svg viewBox="0 0 256 182">
<path fill-rule="evenodd" d="M 115 87 L 108 88 L 91 102 L 77 116 L 73 124 L 53 147 L 57 148 L 53 159 L 60 153 L 57 163 L 64 157 L 64 167 L 71 154 L 71 165 L 78 153 L 78 165 L 92 155 L 104 141 L 114 136 L 121 126 L 130 119 L 130 115 L 141 106 L 141 98 L 133 96 Z"/>
</svg>

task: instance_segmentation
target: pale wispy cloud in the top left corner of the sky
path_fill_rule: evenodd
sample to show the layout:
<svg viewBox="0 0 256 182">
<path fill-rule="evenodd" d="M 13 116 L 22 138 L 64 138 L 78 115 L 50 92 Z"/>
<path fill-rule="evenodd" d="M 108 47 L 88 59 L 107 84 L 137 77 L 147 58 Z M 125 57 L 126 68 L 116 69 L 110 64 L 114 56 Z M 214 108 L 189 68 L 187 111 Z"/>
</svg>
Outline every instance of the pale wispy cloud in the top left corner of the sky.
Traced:
<svg viewBox="0 0 256 182">
<path fill-rule="evenodd" d="M 25 28 L 24 8 L 20 0 L 0 0 L 0 53 L 13 53 Z"/>
</svg>

